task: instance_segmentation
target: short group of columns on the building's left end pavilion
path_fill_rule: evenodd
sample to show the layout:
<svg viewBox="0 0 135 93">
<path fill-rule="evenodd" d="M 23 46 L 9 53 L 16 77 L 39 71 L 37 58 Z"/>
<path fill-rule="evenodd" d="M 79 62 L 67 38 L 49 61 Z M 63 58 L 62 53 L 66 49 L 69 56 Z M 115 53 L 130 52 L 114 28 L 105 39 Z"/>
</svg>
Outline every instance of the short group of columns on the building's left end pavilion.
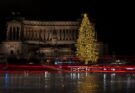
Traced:
<svg viewBox="0 0 135 93">
<path fill-rule="evenodd" d="M 21 27 L 8 26 L 7 28 L 7 40 L 20 40 L 21 39 Z"/>
</svg>

